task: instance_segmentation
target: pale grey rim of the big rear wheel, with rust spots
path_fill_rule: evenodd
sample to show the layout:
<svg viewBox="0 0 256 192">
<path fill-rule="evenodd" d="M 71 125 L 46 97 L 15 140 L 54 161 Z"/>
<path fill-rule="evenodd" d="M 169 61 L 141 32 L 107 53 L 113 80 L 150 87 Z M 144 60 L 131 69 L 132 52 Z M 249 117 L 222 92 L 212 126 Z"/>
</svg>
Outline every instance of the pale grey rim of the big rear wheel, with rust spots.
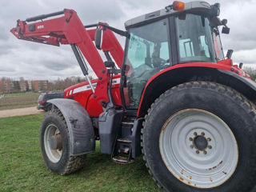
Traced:
<svg viewBox="0 0 256 192">
<path fill-rule="evenodd" d="M 170 173 L 197 188 L 222 185 L 238 164 L 238 144 L 230 127 L 206 110 L 181 110 L 168 118 L 159 147 Z"/>
</svg>

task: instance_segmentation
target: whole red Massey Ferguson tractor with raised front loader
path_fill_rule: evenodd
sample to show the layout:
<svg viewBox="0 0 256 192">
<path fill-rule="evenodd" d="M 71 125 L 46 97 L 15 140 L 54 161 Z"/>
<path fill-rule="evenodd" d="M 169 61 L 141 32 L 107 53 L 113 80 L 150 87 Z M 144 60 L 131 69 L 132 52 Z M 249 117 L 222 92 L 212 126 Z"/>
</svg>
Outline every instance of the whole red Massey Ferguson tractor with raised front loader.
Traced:
<svg viewBox="0 0 256 192">
<path fill-rule="evenodd" d="M 224 56 L 219 28 L 230 28 L 219 14 L 218 3 L 174 2 L 130 19 L 126 31 L 84 26 L 68 9 L 18 20 L 17 38 L 70 45 L 83 74 L 88 62 L 98 77 L 48 101 L 40 130 L 47 168 L 73 173 L 100 140 L 114 162 L 142 154 L 166 191 L 253 190 L 256 84 L 233 65 L 232 50 Z M 114 34 L 126 38 L 124 50 Z"/>
</svg>

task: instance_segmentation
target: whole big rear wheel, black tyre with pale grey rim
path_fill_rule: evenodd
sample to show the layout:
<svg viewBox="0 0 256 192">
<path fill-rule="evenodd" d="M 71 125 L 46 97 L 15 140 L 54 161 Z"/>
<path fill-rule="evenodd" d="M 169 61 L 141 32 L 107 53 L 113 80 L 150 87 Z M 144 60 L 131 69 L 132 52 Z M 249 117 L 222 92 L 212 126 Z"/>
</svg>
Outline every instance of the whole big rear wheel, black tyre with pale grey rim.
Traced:
<svg viewBox="0 0 256 192">
<path fill-rule="evenodd" d="M 255 108 L 213 82 L 189 82 L 151 106 L 142 146 L 146 166 L 167 191 L 248 192 L 255 185 Z"/>
</svg>

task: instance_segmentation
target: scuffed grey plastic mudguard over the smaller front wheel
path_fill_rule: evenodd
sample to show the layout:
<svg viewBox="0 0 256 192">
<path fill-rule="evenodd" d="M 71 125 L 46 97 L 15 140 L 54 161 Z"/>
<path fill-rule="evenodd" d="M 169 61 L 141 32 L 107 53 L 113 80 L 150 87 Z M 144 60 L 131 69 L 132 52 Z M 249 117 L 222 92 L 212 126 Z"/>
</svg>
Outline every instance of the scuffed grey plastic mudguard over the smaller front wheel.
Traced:
<svg viewBox="0 0 256 192">
<path fill-rule="evenodd" d="M 49 101 L 63 114 L 70 133 L 70 154 L 89 154 L 95 150 L 94 127 L 86 110 L 76 101 L 54 98 Z"/>
</svg>

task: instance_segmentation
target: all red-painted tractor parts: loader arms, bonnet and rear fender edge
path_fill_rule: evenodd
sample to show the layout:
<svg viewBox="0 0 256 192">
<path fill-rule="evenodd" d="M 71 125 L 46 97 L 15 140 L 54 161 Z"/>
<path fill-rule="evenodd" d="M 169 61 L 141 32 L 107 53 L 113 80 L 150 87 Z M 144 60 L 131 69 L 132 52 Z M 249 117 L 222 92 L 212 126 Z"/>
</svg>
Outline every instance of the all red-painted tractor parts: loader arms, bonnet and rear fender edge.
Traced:
<svg viewBox="0 0 256 192">
<path fill-rule="evenodd" d="M 63 14 L 64 16 L 59 18 L 52 18 L 46 21 L 33 22 L 30 24 L 18 20 L 17 27 L 10 31 L 17 38 L 31 42 L 41 42 L 53 46 L 59 46 L 60 44 L 76 44 L 85 56 L 87 62 L 89 62 L 98 79 L 91 81 L 95 88 L 95 93 L 91 90 L 88 82 L 82 82 L 67 88 L 65 90 L 65 98 L 73 98 L 87 110 L 90 117 L 98 117 L 99 114 L 103 112 L 101 102 L 109 101 L 107 87 L 110 85 L 110 74 L 106 73 L 106 67 L 104 66 L 102 58 L 92 42 L 94 41 L 95 29 L 86 30 L 74 10 L 66 9 Z M 106 23 L 104 24 L 107 25 Z M 31 26 L 34 26 L 34 30 L 32 31 L 30 30 Z M 102 50 L 109 51 L 117 66 L 122 68 L 124 53 L 122 46 L 120 46 L 113 32 L 105 29 L 102 39 Z M 225 59 L 218 63 L 192 62 L 170 66 L 169 68 L 154 74 L 154 76 L 146 83 L 137 115 L 139 115 L 145 91 L 150 85 L 150 82 L 154 81 L 154 78 L 157 78 L 159 75 L 169 70 L 191 66 L 229 70 L 242 77 L 250 78 L 250 76 L 239 69 L 238 66 L 233 66 L 232 60 L 230 59 Z M 119 87 L 120 78 L 120 75 L 115 75 L 112 81 L 111 93 L 116 106 L 122 106 Z M 124 97 L 126 98 L 125 102 L 127 105 L 127 103 L 129 103 L 129 97 L 126 90 L 124 90 Z"/>
</svg>

